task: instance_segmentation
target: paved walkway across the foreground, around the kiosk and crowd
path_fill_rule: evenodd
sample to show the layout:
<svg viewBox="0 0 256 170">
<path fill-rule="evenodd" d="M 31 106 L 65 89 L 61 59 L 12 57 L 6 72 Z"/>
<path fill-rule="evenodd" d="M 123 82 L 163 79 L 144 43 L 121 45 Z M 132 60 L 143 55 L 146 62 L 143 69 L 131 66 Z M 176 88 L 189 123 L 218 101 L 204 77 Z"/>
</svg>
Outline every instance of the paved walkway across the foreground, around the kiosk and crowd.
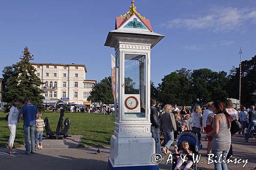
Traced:
<svg viewBox="0 0 256 170">
<path fill-rule="evenodd" d="M 238 159 L 248 159 L 249 163 L 242 168 L 242 164 L 229 163 L 228 168 L 235 169 L 254 169 L 256 167 L 256 143 L 255 139 L 250 139 L 247 143 L 242 140 L 239 135 L 233 136 L 233 151 L 234 156 Z M 75 140 L 76 141 L 76 140 Z M 203 141 L 203 147 L 206 147 L 206 141 Z M 245 145 L 246 144 L 246 145 Z M 22 153 L 24 148 L 15 149 Z M 97 154 L 95 148 L 44 148 L 44 150 L 36 151 L 36 154 L 9 155 L 7 149 L 0 149 L 0 169 L 106 169 L 108 162 L 109 149 L 100 149 L 101 153 Z M 204 154 L 205 149 L 200 153 Z M 167 156 L 163 156 L 165 160 Z M 201 160 L 204 163 L 198 164 L 198 169 L 213 169 L 214 165 L 207 165 L 205 156 Z M 160 164 L 160 169 L 172 169 L 170 164 L 165 164 L 164 161 Z"/>
</svg>

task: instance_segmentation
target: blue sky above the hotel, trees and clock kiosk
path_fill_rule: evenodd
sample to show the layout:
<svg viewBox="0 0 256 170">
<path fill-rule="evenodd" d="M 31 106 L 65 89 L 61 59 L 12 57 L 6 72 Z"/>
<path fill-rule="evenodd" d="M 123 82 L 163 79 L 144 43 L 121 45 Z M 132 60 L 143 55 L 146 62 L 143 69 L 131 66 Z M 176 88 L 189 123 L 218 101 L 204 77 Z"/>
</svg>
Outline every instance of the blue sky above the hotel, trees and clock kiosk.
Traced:
<svg viewBox="0 0 256 170">
<path fill-rule="evenodd" d="M 18 61 L 25 46 L 33 62 L 86 64 L 87 79 L 111 74 L 104 46 L 115 17 L 129 10 L 131 0 L 1 1 L 0 74 Z M 256 54 L 256 1 L 135 0 L 137 11 L 151 20 L 153 31 L 165 35 L 153 49 L 151 79 L 185 67 L 229 71 Z"/>
</svg>

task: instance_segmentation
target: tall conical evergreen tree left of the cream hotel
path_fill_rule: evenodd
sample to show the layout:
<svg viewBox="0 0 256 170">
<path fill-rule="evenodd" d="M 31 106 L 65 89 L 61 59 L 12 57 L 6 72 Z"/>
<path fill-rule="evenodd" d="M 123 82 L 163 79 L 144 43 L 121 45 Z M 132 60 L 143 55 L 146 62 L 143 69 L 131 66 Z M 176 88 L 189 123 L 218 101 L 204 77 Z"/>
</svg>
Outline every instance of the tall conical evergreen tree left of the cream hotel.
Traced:
<svg viewBox="0 0 256 170">
<path fill-rule="evenodd" d="M 28 97 L 31 103 L 41 110 L 44 97 L 41 95 L 42 90 L 39 86 L 44 83 L 35 75 L 36 69 L 30 63 L 33 60 L 33 55 L 30 54 L 28 47 L 24 48 L 23 55 L 19 59 L 19 62 L 12 66 L 6 66 L 3 70 L 3 77 L 6 79 L 3 101 L 8 103 L 7 106 L 11 106 L 13 99 L 24 100 L 25 97 Z M 23 102 L 20 102 L 20 105 L 22 104 Z"/>
</svg>

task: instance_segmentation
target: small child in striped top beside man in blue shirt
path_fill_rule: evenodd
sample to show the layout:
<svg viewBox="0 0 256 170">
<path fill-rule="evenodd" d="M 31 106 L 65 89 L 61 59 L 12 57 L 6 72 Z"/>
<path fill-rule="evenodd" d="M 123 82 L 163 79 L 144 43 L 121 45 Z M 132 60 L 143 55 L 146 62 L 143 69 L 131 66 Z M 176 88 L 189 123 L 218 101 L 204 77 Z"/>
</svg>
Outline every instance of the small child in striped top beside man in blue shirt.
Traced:
<svg viewBox="0 0 256 170">
<path fill-rule="evenodd" d="M 42 133 L 44 132 L 45 122 L 42 119 L 42 113 L 38 113 L 38 117 L 35 120 L 36 122 L 36 136 L 35 136 L 35 142 L 36 142 L 36 149 L 42 150 Z M 38 142 L 39 138 L 39 142 Z"/>
</svg>

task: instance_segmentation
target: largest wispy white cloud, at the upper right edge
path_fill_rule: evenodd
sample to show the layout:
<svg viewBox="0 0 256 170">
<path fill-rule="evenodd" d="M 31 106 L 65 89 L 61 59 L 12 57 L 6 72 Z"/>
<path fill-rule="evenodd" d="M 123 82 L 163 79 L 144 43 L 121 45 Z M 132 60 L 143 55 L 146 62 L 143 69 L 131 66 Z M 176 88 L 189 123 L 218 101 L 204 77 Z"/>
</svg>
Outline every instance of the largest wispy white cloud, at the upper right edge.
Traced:
<svg viewBox="0 0 256 170">
<path fill-rule="evenodd" d="M 255 23 L 256 10 L 248 8 L 212 8 L 203 16 L 194 18 L 176 18 L 162 26 L 166 28 L 186 28 L 189 30 L 207 29 L 213 32 L 241 30 L 249 22 Z"/>
</svg>

